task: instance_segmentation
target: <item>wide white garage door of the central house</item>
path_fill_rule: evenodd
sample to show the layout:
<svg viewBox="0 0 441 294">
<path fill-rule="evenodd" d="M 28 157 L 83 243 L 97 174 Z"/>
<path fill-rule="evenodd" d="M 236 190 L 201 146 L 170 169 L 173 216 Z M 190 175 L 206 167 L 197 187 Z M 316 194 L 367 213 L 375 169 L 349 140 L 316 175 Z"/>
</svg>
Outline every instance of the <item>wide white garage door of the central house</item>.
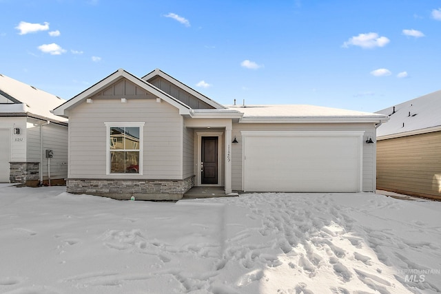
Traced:
<svg viewBox="0 0 441 294">
<path fill-rule="evenodd" d="M 363 132 L 242 132 L 244 191 L 361 191 Z"/>
</svg>

